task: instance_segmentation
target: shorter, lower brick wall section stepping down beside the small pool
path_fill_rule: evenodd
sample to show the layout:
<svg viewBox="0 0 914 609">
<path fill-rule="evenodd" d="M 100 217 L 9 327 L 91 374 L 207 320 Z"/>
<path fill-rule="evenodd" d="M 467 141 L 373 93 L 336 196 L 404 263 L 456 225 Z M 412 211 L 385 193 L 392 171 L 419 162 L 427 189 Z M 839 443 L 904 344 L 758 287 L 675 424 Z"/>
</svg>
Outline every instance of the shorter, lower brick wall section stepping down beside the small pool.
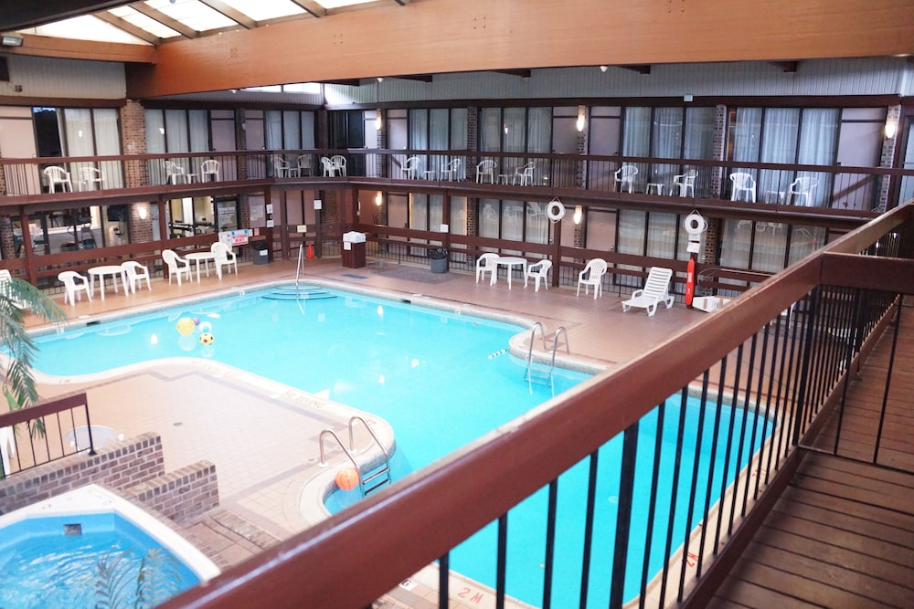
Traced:
<svg viewBox="0 0 914 609">
<path fill-rule="evenodd" d="M 126 488 L 121 495 L 175 522 L 196 518 L 218 508 L 216 466 L 209 461 L 198 461 Z"/>
</svg>

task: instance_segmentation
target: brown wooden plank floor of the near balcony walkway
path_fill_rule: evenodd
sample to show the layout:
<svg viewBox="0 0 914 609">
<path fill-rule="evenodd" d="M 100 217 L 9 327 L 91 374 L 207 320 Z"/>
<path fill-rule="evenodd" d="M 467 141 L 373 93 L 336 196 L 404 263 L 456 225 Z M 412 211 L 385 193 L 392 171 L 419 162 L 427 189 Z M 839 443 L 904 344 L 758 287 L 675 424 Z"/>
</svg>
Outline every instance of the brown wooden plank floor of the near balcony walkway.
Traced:
<svg viewBox="0 0 914 609">
<path fill-rule="evenodd" d="M 891 329 L 850 385 L 838 456 L 807 451 L 710 606 L 914 606 L 914 474 L 907 473 L 914 471 L 912 315 L 903 308 L 892 358 L 877 459 L 887 467 L 873 465 L 873 456 Z M 833 451 L 838 415 L 816 448 Z"/>
</svg>

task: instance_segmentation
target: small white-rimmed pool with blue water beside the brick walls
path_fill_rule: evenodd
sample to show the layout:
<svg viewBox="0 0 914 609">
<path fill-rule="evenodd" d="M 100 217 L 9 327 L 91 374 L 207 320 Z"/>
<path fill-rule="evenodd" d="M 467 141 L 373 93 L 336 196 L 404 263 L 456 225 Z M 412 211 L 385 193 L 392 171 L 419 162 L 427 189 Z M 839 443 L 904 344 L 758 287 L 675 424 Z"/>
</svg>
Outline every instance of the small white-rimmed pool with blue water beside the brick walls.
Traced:
<svg viewBox="0 0 914 609">
<path fill-rule="evenodd" d="M 148 607 L 217 574 L 174 530 L 96 485 L 0 517 L 4 609 Z"/>
</svg>

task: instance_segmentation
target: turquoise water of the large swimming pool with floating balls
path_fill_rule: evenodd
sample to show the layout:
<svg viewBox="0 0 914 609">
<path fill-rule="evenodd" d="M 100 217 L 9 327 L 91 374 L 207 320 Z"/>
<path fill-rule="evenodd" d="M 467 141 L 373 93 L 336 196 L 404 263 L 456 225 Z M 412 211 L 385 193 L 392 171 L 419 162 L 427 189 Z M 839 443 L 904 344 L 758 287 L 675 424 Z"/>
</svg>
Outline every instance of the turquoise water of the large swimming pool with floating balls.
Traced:
<svg viewBox="0 0 914 609">
<path fill-rule="evenodd" d="M 266 299 L 264 294 L 250 292 L 42 337 L 36 367 L 44 373 L 69 376 L 165 357 L 204 357 L 225 362 L 384 417 L 396 435 L 395 461 L 400 475 L 465 446 L 553 395 L 548 387 L 526 383 L 523 362 L 505 353 L 509 338 L 524 331 L 519 326 L 342 291 L 331 290 L 335 298 L 303 302 Z M 184 330 L 192 327 L 192 331 L 182 335 L 177 330 L 179 323 L 186 326 Z M 211 345 L 201 344 L 201 330 L 213 335 Z M 586 374 L 558 371 L 555 392 L 586 378 Z M 697 401 L 689 401 L 686 438 L 695 437 L 700 409 Z M 700 459 L 699 494 L 704 497 L 705 485 L 710 481 L 713 503 L 727 459 L 718 456 L 712 467 L 708 446 L 696 450 L 696 446 L 686 445 L 677 464 L 673 451 L 678 416 L 679 400 L 671 399 L 664 416 L 659 505 L 672 503 L 669 487 L 676 467 L 687 488 L 696 455 Z M 734 423 L 741 425 L 742 416 L 743 411 L 725 407 L 720 425 L 728 425 L 730 417 L 736 417 Z M 643 540 L 647 524 L 644 501 L 652 459 L 644 457 L 654 451 L 656 421 L 654 412 L 640 426 L 636 476 L 640 503 L 635 506 L 635 540 Z M 713 434 L 707 425 L 713 422 L 714 417 L 707 416 L 708 440 Z M 753 425 L 760 425 L 760 420 L 748 421 L 747 446 Z M 768 431 L 771 432 L 771 425 Z M 761 442 L 759 433 L 756 445 L 744 450 L 743 464 Z M 615 438 L 600 449 L 600 499 L 592 562 L 600 572 L 591 573 L 588 606 L 604 607 L 609 599 L 621 444 L 621 438 Z M 734 449 L 728 457 L 731 476 L 742 465 L 736 463 L 735 452 Z M 560 478 L 553 606 L 578 604 L 587 476 L 588 466 L 579 464 Z M 349 493 L 335 494 L 331 509 L 339 509 L 352 497 Z M 513 509 L 509 517 L 508 593 L 535 606 L 542 600 L 546 500 L 543 490 Z M 687 530 L 696 525 L 695 518 L 686 522 L 686 500 L 680 500 L 677 508 L 674 551 Z M 669 517 L 668 510 L 657 514 L 654 530 L 665 531 Z M 494 585 L 494 547 L 491 526 L 452 552 L 452 569 Z M 650 553 L 652 572 L 658 572 L 666 562 L 664 550 L 663 543 L 654 542 Z M 643 553 L 643 547 L 632 547 L 632 562 L 640 565 Z M 639 583 L 626 583 L 626 598 L 637 594 Z"/>
</svg>

